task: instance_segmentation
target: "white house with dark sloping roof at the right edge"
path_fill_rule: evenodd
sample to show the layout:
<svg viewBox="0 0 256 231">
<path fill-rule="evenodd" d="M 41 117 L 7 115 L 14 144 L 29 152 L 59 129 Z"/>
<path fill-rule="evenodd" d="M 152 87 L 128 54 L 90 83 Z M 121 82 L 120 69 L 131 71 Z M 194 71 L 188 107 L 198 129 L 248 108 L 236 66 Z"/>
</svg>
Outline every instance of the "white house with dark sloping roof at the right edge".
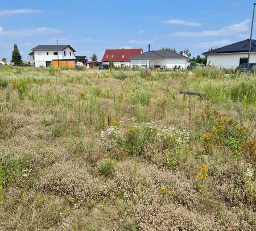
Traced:
<svg viewBox="0 0 256 231">
<path fill-rule="evenodd" d="M 218 68 L 237 68 L 240 64 L 248 62 L 248 52 L 250 46 L 250 39 L 233 43 L 203 53 L 207 56 L 207 64 L 211 62 L 213 66 Z M 250 63 L 256 63 L 256 40 L 251 42 L 251 56 Z"/>
</svg>

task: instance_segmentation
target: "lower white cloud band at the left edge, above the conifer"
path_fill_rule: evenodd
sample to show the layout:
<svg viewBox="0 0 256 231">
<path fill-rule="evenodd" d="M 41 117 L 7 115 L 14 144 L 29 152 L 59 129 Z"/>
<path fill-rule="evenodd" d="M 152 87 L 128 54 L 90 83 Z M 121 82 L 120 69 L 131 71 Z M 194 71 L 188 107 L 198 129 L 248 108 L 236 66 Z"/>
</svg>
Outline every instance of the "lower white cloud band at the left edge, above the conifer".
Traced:
<svg viewBox="0 0 256 231">
<path fill-rule="evenodd" d="M 37 35 L 37 34 L 51 34 L 60 33 L 60 30 L 48 27 L 38 27 L 34 29 L 21 29 L 21 30 L 0 30 L 0 36 L 10 36 L 10 35 Z"/>
</svg>

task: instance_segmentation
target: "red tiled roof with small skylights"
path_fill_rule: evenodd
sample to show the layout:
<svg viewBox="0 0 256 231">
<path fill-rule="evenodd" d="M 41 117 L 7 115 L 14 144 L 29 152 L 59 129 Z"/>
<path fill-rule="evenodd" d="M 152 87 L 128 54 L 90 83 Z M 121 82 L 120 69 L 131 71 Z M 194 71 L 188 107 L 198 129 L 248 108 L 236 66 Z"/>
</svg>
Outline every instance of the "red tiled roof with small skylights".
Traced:
<svg viewBox="0 0 256 231">
<path fill-rule="evenodd" d="M 102 57 L 102 62 L 120 62 L 120 61 L 130 61 L 131 56 L 136 56 L 141 54 L 142 49 L 116 49 L 116 50 L 106 50 L 104 56 Z"/>
</svg>

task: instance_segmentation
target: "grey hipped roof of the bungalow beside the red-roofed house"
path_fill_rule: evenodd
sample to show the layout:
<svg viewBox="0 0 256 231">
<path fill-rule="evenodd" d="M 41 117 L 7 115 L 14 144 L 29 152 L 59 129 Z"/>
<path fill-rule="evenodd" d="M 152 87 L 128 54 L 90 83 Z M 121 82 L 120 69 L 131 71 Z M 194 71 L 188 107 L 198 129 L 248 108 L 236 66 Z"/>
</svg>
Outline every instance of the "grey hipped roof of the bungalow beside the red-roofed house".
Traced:
<svg viewBox="0 0 256 231">
<path fill-rule="evenodd" d="M 182 54 L 172 51 L 148 51 L 137 56 L 131 57 L 131 60 L 163 59 L 163 58 L 187 58 Z"/>
</svg>

